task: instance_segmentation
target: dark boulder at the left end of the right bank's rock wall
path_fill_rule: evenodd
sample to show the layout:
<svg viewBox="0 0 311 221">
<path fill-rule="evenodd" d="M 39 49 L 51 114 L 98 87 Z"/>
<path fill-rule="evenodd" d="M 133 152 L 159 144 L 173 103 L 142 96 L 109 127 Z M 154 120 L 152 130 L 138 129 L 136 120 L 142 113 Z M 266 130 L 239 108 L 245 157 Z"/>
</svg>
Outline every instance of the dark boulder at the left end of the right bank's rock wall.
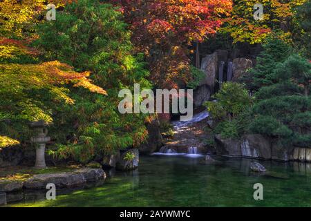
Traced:
<svg viewBox="0 0 311 221">
<path fill-rule="evenodd" d="M 241 141 L 232 138 L 224 139 L 221 135 L 216 135 L 215 142 L 218 155 L 242 156 Z"/>
</svg>

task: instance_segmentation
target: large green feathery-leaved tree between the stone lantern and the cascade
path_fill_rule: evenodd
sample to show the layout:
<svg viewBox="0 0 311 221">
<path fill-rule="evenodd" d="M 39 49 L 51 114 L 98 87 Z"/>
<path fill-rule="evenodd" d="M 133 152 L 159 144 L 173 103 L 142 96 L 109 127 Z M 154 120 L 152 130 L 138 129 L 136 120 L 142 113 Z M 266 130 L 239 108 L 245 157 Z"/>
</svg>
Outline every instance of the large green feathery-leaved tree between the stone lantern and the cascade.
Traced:
<svg viewBox="0 0 311 221">
<path fill-rule="evenodd" d="M 90 0 L 68 4 L 56 21 L 39 27 L 37 46 L 46 51 L 47 59 L 65 62 L 79 71 L 90 70 L 94 83 L 107 92 L 106 96 L 75 92 L 75 106 L 58 115 L 62 123 L 57 125 L 66 126 L 72 139 L 59 145 L 55 155 L 85 161 L 96 154 L 138 146 L 146 139 L 147 116 L 122 115 L 117 109 L 121 89 L 133 89 L 135 83 L 142 89 L 150 87 L 141 56 L 132 55 L 126 27 L 116 8 Z"/>
</svg>

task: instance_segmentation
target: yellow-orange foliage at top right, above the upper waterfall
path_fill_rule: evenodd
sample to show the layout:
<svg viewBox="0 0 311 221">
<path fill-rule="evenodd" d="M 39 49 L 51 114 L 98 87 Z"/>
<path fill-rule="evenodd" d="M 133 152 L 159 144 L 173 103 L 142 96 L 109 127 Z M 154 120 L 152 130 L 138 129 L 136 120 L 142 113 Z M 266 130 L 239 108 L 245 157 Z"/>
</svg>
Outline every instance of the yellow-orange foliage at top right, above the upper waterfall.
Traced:
<svg viewBox="0 0 311 221">
<path fill-rule="evenodd" d="M 236 42 L 249 42 L 250 44 L 263 43 L 270 33 L 275 32 L 281 39 L 290 41 L 291 33 L 284 33 L 281 23 L 285 24 L 293 16 L 294 8 L 307 0 L 289 0 L 286 3 L 280 0 L 242 0 L 235 1 L 232 16 L 229 17 L 220 32 L 228 32 Z M 263 19 L 254 19 L 254 5 L 263 5 Z"/>
</svg>

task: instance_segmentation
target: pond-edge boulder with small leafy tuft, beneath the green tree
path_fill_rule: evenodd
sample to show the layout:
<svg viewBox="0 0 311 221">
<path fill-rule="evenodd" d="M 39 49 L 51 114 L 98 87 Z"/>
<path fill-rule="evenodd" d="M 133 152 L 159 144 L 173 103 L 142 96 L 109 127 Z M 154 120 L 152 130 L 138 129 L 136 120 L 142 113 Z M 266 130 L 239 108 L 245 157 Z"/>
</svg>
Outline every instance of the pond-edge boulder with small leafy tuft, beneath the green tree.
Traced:
<svg viewBox="0 0 311 221">
<path fill-rule="evenodd" d="M 133 155 L 133 159 L 126 159 L 127 155 Z M 116 169 L 119 171 L 132 171 L 138 168 L 140 162 L 140 152 L 138 149 L 130 149 L 121 154 L 120 160 L 117 162 Z"/>
</svg>

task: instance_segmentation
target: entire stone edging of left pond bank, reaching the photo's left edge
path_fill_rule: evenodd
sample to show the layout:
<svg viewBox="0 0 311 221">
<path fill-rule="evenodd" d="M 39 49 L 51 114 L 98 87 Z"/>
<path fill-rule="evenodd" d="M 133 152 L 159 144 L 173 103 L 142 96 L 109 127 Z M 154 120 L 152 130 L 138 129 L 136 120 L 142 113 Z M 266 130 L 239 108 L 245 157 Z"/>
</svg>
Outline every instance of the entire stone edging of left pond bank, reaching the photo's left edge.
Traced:
<svg viewBox="0 0 311 221">
<path fill-rule="evenodd" d="M 81 186 L 88 182 L 106 179 L 103 169 L 82 168 L 70 172 L 38 174 L 26 181 L 0 180 L 0 205 L 7 204 L 7 193 L 17 193 L 24 189 L 42 190 L 47 184 L 55 184 L 56 188 Z"/>
</svg>

